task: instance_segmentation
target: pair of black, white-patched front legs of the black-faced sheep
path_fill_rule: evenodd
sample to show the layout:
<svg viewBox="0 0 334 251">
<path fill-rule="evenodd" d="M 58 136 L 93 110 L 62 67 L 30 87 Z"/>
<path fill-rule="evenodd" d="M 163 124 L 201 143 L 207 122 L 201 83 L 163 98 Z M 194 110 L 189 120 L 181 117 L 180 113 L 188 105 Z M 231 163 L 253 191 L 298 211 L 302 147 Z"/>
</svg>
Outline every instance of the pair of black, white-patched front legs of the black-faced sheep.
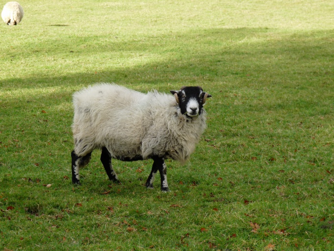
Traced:
<svg viewBox="0 0 334 251">
<path fill-rule="evenodd" d="M 146 181 L 146 187 L 153 188 L 153 182 L 155 179 L 155 175 L 157 174 L 157 171 L 159 170 L 160 179 L 161 179 L 161 190 L 167 192 L 169 191 L 169 188 L 167 184 L 167 167 L 166 167 L 165 159 L 162 157 L 155 157 L 153 158 L 153 160 L 154 162 L 153 162 L 152 170 Z"/>
</svg>

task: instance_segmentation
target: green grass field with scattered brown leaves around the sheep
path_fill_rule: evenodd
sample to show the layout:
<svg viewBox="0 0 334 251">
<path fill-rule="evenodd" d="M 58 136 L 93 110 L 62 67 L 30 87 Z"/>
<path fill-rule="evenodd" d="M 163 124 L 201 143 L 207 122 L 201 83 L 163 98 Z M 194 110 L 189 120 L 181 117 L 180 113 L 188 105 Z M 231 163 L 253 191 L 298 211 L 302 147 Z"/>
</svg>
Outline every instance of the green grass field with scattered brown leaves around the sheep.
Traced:
<svg viewBox="0 0 334 251">
<path fill-rule="evenodd" d="M 20 3 L 0 25 L 0 250 L 334 250 L 333 1 Z M 99 151 L 71 184 L 72 94 L 95 82 L 212 94 L 171 192 L 143 186 L 151 160 L 113 161 L 111 184 Z"/>
</svg>

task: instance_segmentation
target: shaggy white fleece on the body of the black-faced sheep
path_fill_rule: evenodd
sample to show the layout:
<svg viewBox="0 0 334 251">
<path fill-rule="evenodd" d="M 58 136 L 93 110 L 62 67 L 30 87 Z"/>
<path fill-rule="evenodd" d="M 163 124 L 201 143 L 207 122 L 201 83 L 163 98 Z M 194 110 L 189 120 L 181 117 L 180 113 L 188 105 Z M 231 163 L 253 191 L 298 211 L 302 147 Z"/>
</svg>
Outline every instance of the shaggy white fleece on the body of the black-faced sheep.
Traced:
<svg viewBox="0 0 334 251">
<path fill-rule="evenodd" d="M 75 153 L 85 156 L 106 147 L 114 158 L 153 156 L 187 160 L 206 127 L 182 115 L 173 95 L 142 94 L 113 84 L 98 84 L 73 95 Z"/>
</svg>

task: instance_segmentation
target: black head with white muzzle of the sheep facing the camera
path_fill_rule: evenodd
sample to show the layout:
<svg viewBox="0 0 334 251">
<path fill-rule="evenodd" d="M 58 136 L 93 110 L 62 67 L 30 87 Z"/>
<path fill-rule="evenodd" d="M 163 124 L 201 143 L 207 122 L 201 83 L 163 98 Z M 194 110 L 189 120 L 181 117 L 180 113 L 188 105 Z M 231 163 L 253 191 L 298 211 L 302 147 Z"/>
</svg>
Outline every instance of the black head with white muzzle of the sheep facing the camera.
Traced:
<svg viewBox="0 0 334 251">
<path fill-rule="evenodd" d="M 184 86 L 180 91 L 170 91 L 174 94 L 181 113 L 196 118 L 202 113 L 203 105 L 210 94 L 203 92 L 199 86 Z"/>
</svg>

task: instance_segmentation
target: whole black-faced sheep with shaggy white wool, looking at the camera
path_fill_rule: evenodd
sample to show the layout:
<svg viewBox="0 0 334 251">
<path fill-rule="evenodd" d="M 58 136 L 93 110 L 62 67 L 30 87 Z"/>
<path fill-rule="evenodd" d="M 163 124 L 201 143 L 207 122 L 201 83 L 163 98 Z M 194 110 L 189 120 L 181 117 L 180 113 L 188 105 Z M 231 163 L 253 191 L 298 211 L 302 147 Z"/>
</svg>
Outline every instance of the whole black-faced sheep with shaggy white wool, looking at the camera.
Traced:
<svg viewBox="0 0 334 251">
<path fill-rule="evenodd" d="M 143 94 L 100 83 L 73 94 L 72 183 L 80 184 L 79 168 L 88 164 L 94 149 L 101 149 L 100 160 L 111 181 L 120 183 L 111 158 L 153 159 L 145 186 L 153 188 L 159 170 L 161 190 L 169 191 L 165 159 L 185 162 L 195 151 L 206 128 L 203 105 L 211 97 L 201 87 L 170 93 Z"/>
</svg>

